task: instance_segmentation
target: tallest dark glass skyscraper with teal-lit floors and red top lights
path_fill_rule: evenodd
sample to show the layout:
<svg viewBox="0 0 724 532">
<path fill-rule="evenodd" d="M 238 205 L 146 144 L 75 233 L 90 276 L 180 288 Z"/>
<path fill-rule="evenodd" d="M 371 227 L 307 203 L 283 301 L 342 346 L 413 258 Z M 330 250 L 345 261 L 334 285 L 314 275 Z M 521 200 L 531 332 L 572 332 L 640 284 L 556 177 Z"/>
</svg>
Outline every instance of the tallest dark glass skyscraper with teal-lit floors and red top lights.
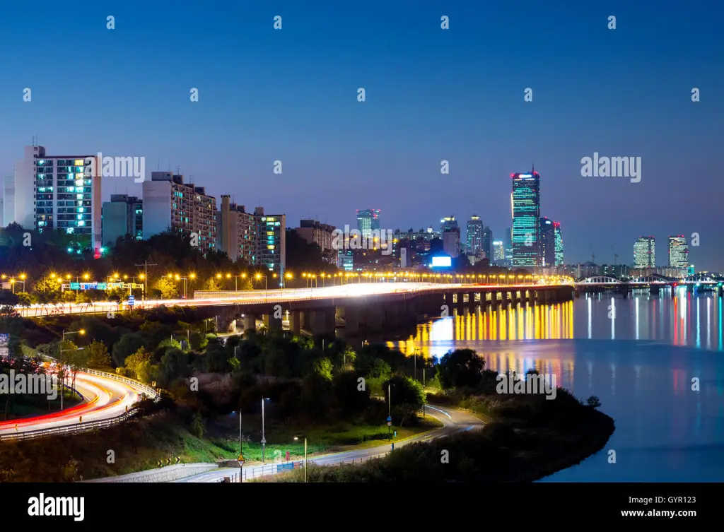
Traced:
<svg viewBox="0 0 724 532">
<path fill-rule="evenodd" d="M 513 178 L 513 266 L 541 266 L 540 174 L 510 174 Z"/>
</svg>

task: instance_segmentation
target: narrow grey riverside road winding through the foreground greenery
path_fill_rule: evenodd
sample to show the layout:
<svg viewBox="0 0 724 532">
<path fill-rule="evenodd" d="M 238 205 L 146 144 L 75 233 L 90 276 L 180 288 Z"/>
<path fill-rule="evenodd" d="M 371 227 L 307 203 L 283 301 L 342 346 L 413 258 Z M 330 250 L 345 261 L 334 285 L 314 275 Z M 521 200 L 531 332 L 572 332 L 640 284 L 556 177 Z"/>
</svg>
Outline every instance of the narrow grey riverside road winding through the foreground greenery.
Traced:
<svg viewBox="0 0 724 532">
<path fill-rule="evenodd" d="M 480 421 L 479 418 L 476 418 L 474 415 L 462 412 L 460 410 L 453 410 L 450 408 L 442 407 L 432 407 L 428 405 L 426 407 L 426 411 L 429 415 L 432 415 L 432 417 L 439 419 L 439 421 L 442 421 L 444 426 L 436 428 L 434 431 L 428 432 L 426 434 L 421 434 L 420 436 L 413 436 L 411 439 L 407 439 L 404 442 L 395 443 L 396 449 L 415 442 L 431 442 L 434 439 L 444 438 L 445 436 L 450 436 L 451 434 L 455 434 L 457 432 L 479 430 L 484 426 L 484 423 Z M 367 460 L 369 458 L 380 457 L 387 454 L 387 452 L 390 451 L 390 447 L 390 444 L 384 444 L 380 445 L 379 447 L 369 447 L 368 449 L 360 449 L 358 451 L 337 452 L 333 455 L 309 457 L 307 459 L 307 462 L 310 464 L 315 463 L 318 465 L 334 465 L 340 462 L 350 462 L 353 459 Z M 299 458 L 295 458 L 295 461 L 298 460 Z M 245 466 L 245 478 L 251 479 L 252 477 L 261 476 L 263 468 L 266 473 L 268 473 L 270 470 L 274 470 L 274 468 L 269 467 L 269 464 L 255 465 L 251 467 Z M 219 470 L 211 471 L 209 473 L 201 473 L 199 475 L 182 478 L 175 482 L 214 483 L 220 482 L 225 476 L 232 476 L 234 473 L 239 473 L 239 469 L 222 468 Z"/>
</svg>

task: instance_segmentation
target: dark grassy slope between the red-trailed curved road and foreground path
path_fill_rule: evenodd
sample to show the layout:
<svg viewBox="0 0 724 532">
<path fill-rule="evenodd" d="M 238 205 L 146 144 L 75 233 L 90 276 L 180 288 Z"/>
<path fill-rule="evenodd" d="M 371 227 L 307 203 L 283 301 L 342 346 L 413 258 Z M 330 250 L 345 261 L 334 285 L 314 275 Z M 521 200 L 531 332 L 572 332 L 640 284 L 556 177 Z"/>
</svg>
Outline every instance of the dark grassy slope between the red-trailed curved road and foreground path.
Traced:
<svg viewBox="0 0 724 532">
<path fill-rule="evenodd" d="M 216 462 L 235 459 L 239 454 L 238 418 L 224 416 L 206 424 L 201 438 L 192 434 L 188 420 L 176 413 L 157 413 L 148 418 L 129 421 L 119 426 L 86 434 L 42 438 L 25 442 L 0 443 L 0 481 L 72 482 L 83 479 L 134 473 L 158 468 L 158 461 L 167 458 L 182 462 Z M 396 428 L 399 442 L 414 434 L 440 426 L 429 416 L 415 428 Z M 261 420 L 243 418 L 244 457 L 248 465 L 261 461 Z M 371 447 L 387 442 L 387 426 L 353 426 L 340 423 L 303 431 L 266 420 L 266 461 L 275 457 L 292 459 L 304 456 L 303 441 L 296 434 L 306 434 L 309 455 L 348 450 L 351 446 Z M 395 427 L 393 427 L 395 428 Z M 114 451 L 114 463 L 108 463 L 109 451 Z M 41 464 L 42 461 L 42 464 Z"/>
</svg>

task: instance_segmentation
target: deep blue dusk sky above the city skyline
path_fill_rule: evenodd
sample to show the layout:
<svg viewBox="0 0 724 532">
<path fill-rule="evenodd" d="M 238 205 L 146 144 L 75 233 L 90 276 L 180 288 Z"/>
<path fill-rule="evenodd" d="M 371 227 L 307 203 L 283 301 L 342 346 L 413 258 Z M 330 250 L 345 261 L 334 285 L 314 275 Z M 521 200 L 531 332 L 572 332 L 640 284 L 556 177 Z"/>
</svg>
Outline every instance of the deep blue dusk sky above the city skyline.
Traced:
<svg viewBox="0 0 724 532">
<path fill-rule="evenodd" d="M 720 2 L 7 4 L 3 174 L 38 135 L 51 155 L 180 166 L 207 193 L 261 202 L 291 227 L 354 225 L 355 209 L 380 208 L 384 228 L 478 214 L 500 238 L 510 173 L 535 163 L 567 263 L 590 260 L 591 245 L 597 262 L 613 263 L 612 245 L 631 262 L 636 237 L 654 235 L 665 264 L 668 235 L 698 232 L 691 262 L 724 270 Z M 641 156 L 641 182 L 584 179 L 594 151 Z M 137 190 L 108 178 L 103 195 Z"/>
</svg>

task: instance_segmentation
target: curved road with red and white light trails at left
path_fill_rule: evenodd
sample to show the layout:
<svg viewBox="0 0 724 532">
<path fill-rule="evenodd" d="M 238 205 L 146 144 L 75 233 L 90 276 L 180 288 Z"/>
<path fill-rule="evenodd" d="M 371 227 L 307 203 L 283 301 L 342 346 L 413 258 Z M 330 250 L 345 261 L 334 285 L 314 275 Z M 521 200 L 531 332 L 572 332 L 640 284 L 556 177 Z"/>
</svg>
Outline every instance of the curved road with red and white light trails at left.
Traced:
<svg viewBox="0 0 724 532">
<path fill-rule="evenodd" d="M 80 416 L 83 416 L 83 423 L 115 418 L 125 413 L 126 408 L 130 409 L 143 393 L 143 389 L 124 381 L 87 373 L 77 374 L 75 388 L 83 395 L 80 405 L 35 418 L 0 422 L 0 436 L 77 425 L 80 423 Z"/>
</svg>

